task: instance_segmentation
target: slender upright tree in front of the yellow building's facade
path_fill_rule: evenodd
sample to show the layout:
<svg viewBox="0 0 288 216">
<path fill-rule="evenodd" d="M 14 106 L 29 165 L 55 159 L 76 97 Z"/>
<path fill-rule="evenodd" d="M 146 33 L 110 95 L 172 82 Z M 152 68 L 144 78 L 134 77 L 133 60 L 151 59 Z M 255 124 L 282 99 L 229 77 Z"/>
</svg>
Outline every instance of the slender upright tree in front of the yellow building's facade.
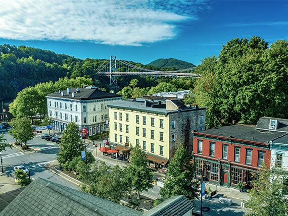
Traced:
<svg viewBox="0 0 288 216">
<path fill-rule="evenodd" d="M 139 146 L 132 148 L 130 164 L 125 167 L 124 172 L 126 182 L 131 184 L 133 190 L 138 193 L 138 198 L 140 198 L 140 192 L 153 188 L 154 174 L 147 164 L 145 152 Z"/>
</svg>

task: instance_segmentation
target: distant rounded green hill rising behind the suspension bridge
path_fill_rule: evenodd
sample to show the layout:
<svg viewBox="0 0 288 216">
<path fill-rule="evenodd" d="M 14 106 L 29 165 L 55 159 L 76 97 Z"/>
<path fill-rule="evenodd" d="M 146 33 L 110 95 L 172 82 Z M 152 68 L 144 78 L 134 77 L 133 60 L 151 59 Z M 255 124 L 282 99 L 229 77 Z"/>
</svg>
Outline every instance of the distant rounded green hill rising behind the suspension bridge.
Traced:
<svg viewBox="0 0 288 216">
<path fill-rule="evenodd" d="M 148 65 L 152 65 L 158 68 L 175 68 L 175 69 L 186 69 L 186 68 L 193 68 L 196 65 L 192 63 L 181 61 L 178 59 L 157 59 Z"/>
</svg>

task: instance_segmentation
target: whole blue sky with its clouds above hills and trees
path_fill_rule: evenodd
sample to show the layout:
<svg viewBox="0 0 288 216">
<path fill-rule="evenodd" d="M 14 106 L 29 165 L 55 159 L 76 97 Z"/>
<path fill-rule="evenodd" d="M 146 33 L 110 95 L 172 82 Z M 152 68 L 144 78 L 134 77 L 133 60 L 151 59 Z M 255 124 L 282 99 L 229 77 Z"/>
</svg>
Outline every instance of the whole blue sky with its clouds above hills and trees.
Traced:
<svg viewBox="0 0 288 216">
<path fill-rule="evenodd" d="M 198 65 L 235 37 L 288 40 L 288 1 L 2 0 L 0 44 L 76 58 Z"/>
</svg>

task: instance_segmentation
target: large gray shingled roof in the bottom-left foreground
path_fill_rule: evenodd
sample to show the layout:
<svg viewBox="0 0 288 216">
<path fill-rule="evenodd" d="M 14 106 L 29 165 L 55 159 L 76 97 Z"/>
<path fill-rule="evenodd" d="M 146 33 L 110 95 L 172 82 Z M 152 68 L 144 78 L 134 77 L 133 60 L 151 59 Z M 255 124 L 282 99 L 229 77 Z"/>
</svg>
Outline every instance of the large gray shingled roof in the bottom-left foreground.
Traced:
<svg viewBox="0 0 288 216">
<path fill-rule="evenodd" d="M 78 190 L 36 179 L 0 215 L 140 215 L 142 212 Z"/>
</svg>

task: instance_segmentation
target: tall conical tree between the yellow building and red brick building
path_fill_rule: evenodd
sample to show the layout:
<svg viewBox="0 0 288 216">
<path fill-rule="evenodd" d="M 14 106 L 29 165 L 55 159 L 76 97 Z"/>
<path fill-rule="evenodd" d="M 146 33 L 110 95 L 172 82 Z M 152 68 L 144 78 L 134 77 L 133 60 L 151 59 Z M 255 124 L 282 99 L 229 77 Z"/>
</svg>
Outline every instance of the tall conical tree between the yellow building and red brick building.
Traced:
<svg viewBox="0 0 288 216">
<path fill-rule="evenodd" d="M 163 198 L 177 195 L 184 195 L 190 200 L 198 198 L 199 182 L 194 180 L 196 165 L 191 160 L 192 155 L 180 143 L 169 163 L 164 188 L 160 189 Z"/>
</svg>

